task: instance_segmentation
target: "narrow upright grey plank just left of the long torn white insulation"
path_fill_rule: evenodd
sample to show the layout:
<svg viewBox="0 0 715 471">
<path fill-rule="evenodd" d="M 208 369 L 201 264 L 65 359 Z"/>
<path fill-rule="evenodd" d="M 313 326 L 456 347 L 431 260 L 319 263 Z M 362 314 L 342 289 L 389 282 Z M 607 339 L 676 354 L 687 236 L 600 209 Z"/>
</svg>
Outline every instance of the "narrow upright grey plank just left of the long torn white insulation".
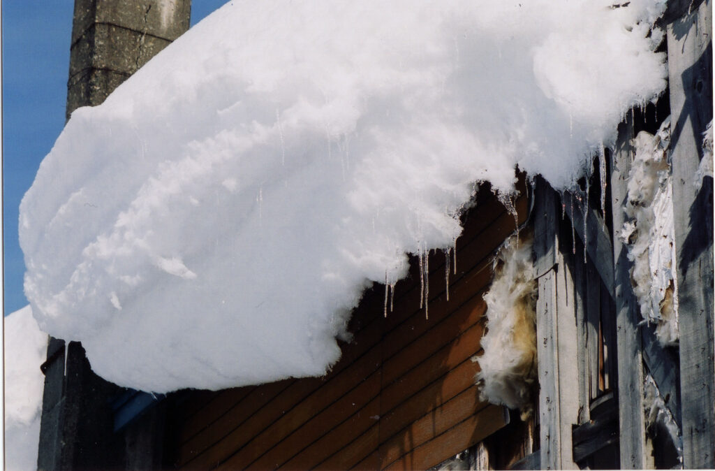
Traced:
<svg viewBox="0 0 715 471">
<path fill-rule="evenodd" d="M 628 171 L 633 160 L 633 117 L 628 116 L 618 127 L 616 150 L 611 154 L 611 213 L 613 233 L 623 228 Z M 638 304 L 631 288 L 631 262 L 626 246 L 613 236 L 614 281 L 616 304 L 616 339 L 618 356 L 618 423 L 621 433 L 621 468 L 644 469 L 646 466 L 646 430 L 643 408 L 643 359 L 638 333 Z"/>
</svg>

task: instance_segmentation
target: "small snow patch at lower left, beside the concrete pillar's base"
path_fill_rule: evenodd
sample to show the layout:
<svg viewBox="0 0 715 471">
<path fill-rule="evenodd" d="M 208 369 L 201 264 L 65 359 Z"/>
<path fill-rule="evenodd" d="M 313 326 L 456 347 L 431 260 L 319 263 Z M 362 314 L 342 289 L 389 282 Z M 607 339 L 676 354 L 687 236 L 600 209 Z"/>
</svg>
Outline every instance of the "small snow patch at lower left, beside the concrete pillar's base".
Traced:
<svg viewBox="0 0 715 471">
<path fill-rule="evenodd" d="M 30 306 L 5 318 L 5 467 L 37 468 L 44 376 L 40 365 L 47 351 Z"/>
</svg>

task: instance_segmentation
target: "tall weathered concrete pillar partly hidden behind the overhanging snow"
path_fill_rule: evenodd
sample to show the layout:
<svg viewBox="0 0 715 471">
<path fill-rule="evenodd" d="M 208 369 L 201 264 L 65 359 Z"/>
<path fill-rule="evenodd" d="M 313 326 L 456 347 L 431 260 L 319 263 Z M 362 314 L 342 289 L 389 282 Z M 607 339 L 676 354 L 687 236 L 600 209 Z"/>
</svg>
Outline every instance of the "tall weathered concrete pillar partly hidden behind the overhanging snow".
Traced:
<svg viewBox="0 0 715 471">
<path fill-rule="evenodd" d="M 189 28 L 190 13 L 191 0 L 75 0 L 66 118 L 78 107 L 102 103 Z M 147 444 L 156 450 L 162 440 L 139 423 L 156 429 L 158 412 L 114 432 L 109 400 L 122 388 L 92 372 L 81 344 L 65 349 L 63 340 L 51 338 L 42 371 L 39 470 L 157 467 L 161 450 L 151 452 Z"/>
</svg>

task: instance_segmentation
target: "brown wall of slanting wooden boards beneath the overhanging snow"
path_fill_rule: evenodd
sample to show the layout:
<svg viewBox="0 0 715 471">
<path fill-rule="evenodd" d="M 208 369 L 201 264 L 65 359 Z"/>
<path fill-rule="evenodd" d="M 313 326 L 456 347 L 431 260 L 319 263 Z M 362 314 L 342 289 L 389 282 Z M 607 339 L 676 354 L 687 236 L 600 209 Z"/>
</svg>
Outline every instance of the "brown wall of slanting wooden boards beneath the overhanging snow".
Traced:
<svg viewBox="0 0 715 471">
<path fill-rule="evenodd" d="M 517 202 L 522 221 L 526 203 Z M 425 319 L 413 260 L 387 318 L 384 287 L 365 294 L 350 325 L 355 338 L 325 377 L 196 392 L 177 404 L 174 465 L 425 469 L 503 427 L 505 409 L 479 400 L 473 356 L 484 331 L 491 257 L 514 225 L 501 203 L 481 192 L 458 239 L 449 301 L 445 254 L 433 253 Z"/>
</svg>

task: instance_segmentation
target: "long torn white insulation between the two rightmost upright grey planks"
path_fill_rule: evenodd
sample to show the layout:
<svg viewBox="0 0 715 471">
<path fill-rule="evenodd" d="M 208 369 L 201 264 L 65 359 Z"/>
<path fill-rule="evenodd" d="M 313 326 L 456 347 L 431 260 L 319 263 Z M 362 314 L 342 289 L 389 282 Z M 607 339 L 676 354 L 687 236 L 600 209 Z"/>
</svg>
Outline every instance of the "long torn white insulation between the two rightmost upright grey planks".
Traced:
<svg viewBox="0 0 715 471">
<path fill-rule="evenodd" d="M 656 324 L 661 344 L 678 342 L 678 280 L 673 185 L 668 160 L 670 118 L 656 135 L 641 131 L 633 140 L 636 156 L 628 173 L 630 220 L 621 231 L 633 261 L 631 284 L 644 322 Z"/>
</svg>

